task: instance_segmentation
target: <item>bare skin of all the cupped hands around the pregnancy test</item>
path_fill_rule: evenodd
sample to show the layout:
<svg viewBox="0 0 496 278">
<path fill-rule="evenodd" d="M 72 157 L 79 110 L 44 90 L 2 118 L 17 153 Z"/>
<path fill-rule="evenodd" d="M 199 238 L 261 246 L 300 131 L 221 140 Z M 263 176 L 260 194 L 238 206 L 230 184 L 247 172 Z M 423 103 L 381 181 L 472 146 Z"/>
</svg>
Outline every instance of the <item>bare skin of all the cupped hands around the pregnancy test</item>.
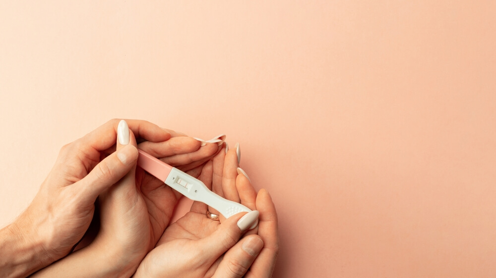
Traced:
<svg viewBox="0 0 496 278">
<path fill-rule="evenodd" d="M 127 122 L 130 141 L 126 145 L 116 140 L 119 121 L 112 120 L 62 148 L 33 203 L 16 222 L 0 231 L 4 255 L 0 259 L 1 276 L 25 277 L 68 254 L 90 225 L 99 196 L 100 229 L 96 237 L 34 276 L 129 277 L 157 245 L 140 265 L 145 272 L 138 270 L 136 276 L 270 277 L 279 246 L 277 214 L 265 190 L 257 194 L 244 175 L 236 174 L 236 153 L 219 152 L 223 145 L 200 147 L 197 140 L 148 122 Z M 237 225 L 243 214 L 221 218 L 220 223 L 206 218 L 206 205 L 195 202 L 190 213 L 164 232 L 180 195 L 136 168 L 136 147 L 194 177 L 201 172 L 208 186 L 215 179 L 219 181 L 219 177 L 214 178 L 215 171 L 222 173 L 221 188 L 226 196 L 259 209 L 260 228 L 244 234 Z M 124 163 L 118 159 L 119 153 L 127 154 Z M 213 161 L 203 167 L 215 153 Z M 249 252 L 245 245 L 251 246 Z M 176 269 L 168 269 L 169 264 L 162 268 L 163 260 L 162 265 L 147 267 L 150 260 L 171 262 L 180 256 L 185 257 L 173 264 Z"/>
</svg>

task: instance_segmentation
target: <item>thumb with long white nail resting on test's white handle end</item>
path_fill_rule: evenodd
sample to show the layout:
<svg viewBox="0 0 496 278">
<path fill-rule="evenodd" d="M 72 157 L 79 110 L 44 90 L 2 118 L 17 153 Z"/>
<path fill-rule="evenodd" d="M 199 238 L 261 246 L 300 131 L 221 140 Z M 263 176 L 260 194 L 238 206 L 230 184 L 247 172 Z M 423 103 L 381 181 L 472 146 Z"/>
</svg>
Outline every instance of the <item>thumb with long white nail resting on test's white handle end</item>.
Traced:
<svg viewBox="0 0 496 278">
<path fill-rule="evenodd" d="M 215 232 L 201 239 L 204 241 L 202 244 L 205 248 L 203 252 L 208 258 L 215 261 L 227 250 L 231 249 L 241 238 L 241 235 L 258 220 L 259 213 L 254 210 L 243 215 L 243 217 L 240 217 L 241 215 L 239 213 L 231 216 L 220 224 Z"/>
</svg>

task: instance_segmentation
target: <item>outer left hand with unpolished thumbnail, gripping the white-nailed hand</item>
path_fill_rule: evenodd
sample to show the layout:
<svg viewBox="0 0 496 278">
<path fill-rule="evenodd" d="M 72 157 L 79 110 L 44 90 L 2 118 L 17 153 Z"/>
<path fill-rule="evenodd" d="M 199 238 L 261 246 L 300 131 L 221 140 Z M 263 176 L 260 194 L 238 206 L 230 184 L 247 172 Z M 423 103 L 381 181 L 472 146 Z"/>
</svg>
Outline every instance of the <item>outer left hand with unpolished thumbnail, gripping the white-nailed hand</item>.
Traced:
<svg viewBox="0 0 496 278">
<path fill-rule="evenodd" d="M 97 196 L 136 163 L 137 150 L 132 145 L 101 160 L 116 143 L 118 122 L 111 120 L 62 147 L 33 202 L 2 230 L 12 236 L 3 238 L 10 240 L 7 245 L 0 242 L 0 276 L 29 275 L 67 255 L 81 239 L 93 218 Z M 140 138 L 152 142 L 171 137 L 145 121 L 130 120 L 129 127 Z"/>
</svg>

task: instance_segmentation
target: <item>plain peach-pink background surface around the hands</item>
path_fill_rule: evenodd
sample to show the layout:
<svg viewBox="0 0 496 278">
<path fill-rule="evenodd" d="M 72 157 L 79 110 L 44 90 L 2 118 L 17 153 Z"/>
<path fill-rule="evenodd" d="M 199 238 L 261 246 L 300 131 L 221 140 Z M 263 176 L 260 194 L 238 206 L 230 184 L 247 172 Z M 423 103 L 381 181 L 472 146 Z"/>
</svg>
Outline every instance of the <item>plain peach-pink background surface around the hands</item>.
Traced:
<svg viewBox="0 0 496 278">
<path fill-rule="evenodd" d="M 2 1 L 0 226 L 111 118 L 241 143 L 274 277 L 496 276 L 496 2 Z"/>
</svg>

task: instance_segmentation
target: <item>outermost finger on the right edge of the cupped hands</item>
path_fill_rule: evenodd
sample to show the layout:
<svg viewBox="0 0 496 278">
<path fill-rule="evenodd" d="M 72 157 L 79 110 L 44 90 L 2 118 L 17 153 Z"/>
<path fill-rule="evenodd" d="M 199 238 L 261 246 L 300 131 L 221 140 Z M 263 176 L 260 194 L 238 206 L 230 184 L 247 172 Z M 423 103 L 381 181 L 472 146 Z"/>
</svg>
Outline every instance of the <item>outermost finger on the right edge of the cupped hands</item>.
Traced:
<svg viewBox="0 0 496 278">
<path fill-rule="evenodd" d="M 279 252 L 279 236 L 277 228 L 277 212 L 272 198 L 265 189 L 261 189 L 256 197 L 256 208 L 260 211 L 258 235 L 264 245 L 251 265 L 246 277 L 271 277 Z"/>
</svg>

